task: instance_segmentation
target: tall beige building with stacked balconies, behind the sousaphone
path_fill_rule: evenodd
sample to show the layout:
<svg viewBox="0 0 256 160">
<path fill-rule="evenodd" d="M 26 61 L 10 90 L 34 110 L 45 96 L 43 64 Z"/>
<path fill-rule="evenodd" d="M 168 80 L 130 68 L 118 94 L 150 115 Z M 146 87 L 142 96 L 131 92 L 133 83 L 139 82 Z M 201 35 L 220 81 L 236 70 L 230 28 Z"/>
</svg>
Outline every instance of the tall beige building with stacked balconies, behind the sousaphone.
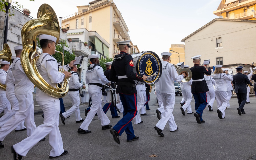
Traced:
<svg viewBox="0 0 256 160">
<path fill-rule="evenodd" d="M 96 31 L 109 44 L 109 57 L 119 54 L 116 42 L 130 40 L 129 29 L 112 0 L 95 0 L 85 6 L 77 6 L 78 13 L 62 20 L 62 28 L 69 29 L 86 28 L 89 32 Z M 100 40 L 99 40 L 100 41 Z M 102 41 L 100 41 L 102 42 Z M 92 51 L 99 51 L 95 41 L 88 40 Z M 129 53 L 139 52 L 138 47 L 131 42 Z M 103 53 L 101 53 L 103 54 Z"/>
</svg>

